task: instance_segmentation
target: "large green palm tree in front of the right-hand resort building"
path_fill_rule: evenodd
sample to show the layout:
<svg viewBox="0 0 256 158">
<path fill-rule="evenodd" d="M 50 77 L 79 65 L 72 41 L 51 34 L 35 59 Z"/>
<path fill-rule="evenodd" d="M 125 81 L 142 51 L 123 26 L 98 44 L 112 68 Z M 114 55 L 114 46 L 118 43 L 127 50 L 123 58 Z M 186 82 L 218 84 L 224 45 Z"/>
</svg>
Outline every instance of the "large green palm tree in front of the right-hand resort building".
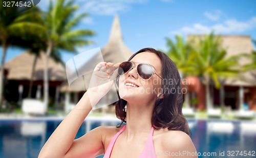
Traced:
<svg viewBox="0 0 256 158">
<path fill-rule="evenodd" d="M 226 51 L 221 48 L 221 39 L 214 33 L 206 35 L 200 40 L 198 46 L 195 46 L 195 62 L 196 74 L 203 78 L 206 83 L 206 107 L 213 108 L 213 99 L 210 97 L 210 81 L 215 83 L 217 88 L 222 84 L 220 80 L 228 77 L 236 77 L 239 72 L 239 56 L 226 57 Z M 221 93 L 223 94 L 223 88 Z M 223 103 L 223 98 L 222 101 Z"/>
</svg>

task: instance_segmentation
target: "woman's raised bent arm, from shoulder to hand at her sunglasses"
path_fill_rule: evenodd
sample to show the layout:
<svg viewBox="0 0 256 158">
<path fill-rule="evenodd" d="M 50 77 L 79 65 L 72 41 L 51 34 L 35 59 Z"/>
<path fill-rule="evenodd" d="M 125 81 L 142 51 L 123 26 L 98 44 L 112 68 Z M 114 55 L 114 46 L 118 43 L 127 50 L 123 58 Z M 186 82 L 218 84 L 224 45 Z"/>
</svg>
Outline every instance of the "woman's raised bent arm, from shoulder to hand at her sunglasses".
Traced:
<svg viewBox="0 0 256 158">
<path fill-rule="evenodd" d="M 85 134 L 82 138 L 74 140 L 79 127 L 88 116 L 92 107 L 108 93 L 111 85 L 114 83 L 113 78 L 116 76 L 113 76 L 113 74 L 116 74 L 109 75 L 107 73 L 105 76 L 104 73 L 106 72 L 103 69 L 101 71 L 98 69 L 102 66 L 108 68 L 118 66 L 118 64 L 101 62 L 95 67 L 96 71 L 92 79 L 94 85 L 99 83 L 99 86 L 93 86 L 93 88 L 89 88 L 84 93 L 80 101 L 52 133 L 44 147 L 42 147 L 38 157 L 80 157 L 85 155 L 86 157 L 95 157 L 95 155 L 103 154 L 104 146 L 101 140 L 102 130 L 100 128 L 96 128 Z M 109 78 L 112 78 L 112 80 L 109 81 Z M 104 80 L 109 82 L 100 84 Z"/>
</svg>

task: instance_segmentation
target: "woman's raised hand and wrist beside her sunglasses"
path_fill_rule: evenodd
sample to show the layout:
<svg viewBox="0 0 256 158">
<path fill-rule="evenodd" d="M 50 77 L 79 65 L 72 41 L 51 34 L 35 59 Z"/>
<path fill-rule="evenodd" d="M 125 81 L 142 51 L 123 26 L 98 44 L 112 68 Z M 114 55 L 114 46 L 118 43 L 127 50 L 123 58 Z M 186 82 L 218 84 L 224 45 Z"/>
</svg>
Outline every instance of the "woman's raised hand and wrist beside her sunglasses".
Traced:
<svg viewBox="0 0 256 158">
<path fill-rule="evenodd" d="M 119 65 L 120 63 L 114 65 L 111 62 L 100 62 L 96 65 L 87 91 L 92 107 L 110 91 L 118 75 Z"/>
</svg>

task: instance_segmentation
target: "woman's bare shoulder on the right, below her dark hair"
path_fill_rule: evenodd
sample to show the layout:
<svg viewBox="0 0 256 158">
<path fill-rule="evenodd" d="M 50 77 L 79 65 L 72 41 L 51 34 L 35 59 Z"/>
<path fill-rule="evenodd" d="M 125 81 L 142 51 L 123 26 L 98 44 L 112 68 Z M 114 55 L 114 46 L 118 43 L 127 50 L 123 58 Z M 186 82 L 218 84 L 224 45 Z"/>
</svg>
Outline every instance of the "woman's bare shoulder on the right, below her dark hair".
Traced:
<svg viewBox="0 0 256 158">
<path fill-rule="evenodd" d="M 188 134 L 179 130 L 168 130 L 160 129 L 157 134 L 159 134 L 159 145 L 162 151 L 169 151 L 169 153 L 193 153 L 196 154 L 196 148 L 191 141 Z M 181 156 L 181 155 L 179 155 Z M 178 156 L 178 157 L 179 157 Z M 175 156 L 177 157 L 177 156 Z M 189 156 L 187 154 L 182 155 L 181 157 L 197 157 Z"/>
</svg>

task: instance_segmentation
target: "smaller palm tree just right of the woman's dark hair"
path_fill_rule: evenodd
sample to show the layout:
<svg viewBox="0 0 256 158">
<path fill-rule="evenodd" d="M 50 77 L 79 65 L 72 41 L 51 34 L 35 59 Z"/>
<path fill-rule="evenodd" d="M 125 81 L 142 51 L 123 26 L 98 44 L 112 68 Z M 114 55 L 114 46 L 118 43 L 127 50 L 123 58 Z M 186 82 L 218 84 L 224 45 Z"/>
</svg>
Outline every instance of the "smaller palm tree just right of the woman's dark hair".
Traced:
<svg viewBox="0 0 256 158">
<path fill-rule="evenodd" d="M 181 72 L 181 78 L 186 79 L 186 76 L 193 74 L 194 71 L 194 67 L 191 66 L 191 62 L 193 62 L 192 48 L 181 36 L 176 35 L 175 38 L 176 42 L 168 37 L 165 38 L 168 47 L 166 54 L 176 63 Z M 188 89 L 187 84 L 185 84 L 185 88 Z M 188 94 L 185 94 L 185 105 L 190 107 Z"/>
</svg>

